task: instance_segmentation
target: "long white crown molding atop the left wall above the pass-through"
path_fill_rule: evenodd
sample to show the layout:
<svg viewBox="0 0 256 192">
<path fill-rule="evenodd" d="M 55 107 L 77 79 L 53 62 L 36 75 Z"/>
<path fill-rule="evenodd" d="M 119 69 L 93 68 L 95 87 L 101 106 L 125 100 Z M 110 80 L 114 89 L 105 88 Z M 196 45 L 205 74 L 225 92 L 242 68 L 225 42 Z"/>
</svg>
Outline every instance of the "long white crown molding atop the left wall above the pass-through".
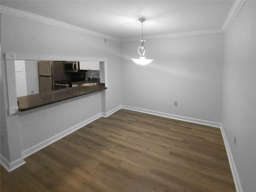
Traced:
<svg viewBox="0 0 256 192">
<path fill-rule="evenodd" d="M 67 24 L 67 23 L 64 23 L 64 22 L 60 22 L 60 21 L 57 21 L 57 20 L 54 20 L 54 19 L 46 18 L 46 17 L 43 17 L 43 16 L 39 16 L 39 15 L 36 15 L 36 14 L 24 12 L 24 11 L 13 9 L 13 8 L 9 8 L 9 7 L 6 7 L 6 6 L 0 6 L 0 12 L 4 13 L 4 14 L 10 14 L 10 15 L 14 15 L 14 16 L 18 16 L 18 17 L 22 17 L 22 18 L 26 18 L 26 19 L 31 19 L 31 20 L 43 22 L 43 23 L 46 23 L 46 24 L 66 28 L 66 29 L 69 29 L 69 30 L 81 32 L 81 33 L 84 33 L 84 34 L 88 34 L 88 35 L 92 35 L 92 36 L 96 36 L 96 37 L 100 37 L 100 38 L 106 38 L 106 39 L 109 39 L 109 40 L 120 42 L 120 39 L 112 37 L 112 36 L 104 35 L 104 34 L 97 33 L 97 32 L 94 32 L 94 31 L 90 31 L 90 30 L 80 28 L 80 27 L 77 27 L 77 26 L 74 26 L 74 25 L 70 25 L 70 24 Z"/>
</svg>

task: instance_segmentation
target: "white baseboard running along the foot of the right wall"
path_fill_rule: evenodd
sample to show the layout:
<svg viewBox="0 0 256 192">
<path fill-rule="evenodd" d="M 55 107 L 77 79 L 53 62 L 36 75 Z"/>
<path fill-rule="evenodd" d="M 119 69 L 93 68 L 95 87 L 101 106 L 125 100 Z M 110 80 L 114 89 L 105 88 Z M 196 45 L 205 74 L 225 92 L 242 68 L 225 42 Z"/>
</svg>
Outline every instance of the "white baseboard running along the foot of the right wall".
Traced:
<svg viewBox="0 0 256 192">
<path fill-rule="evenodd" d="M 221 131 L 222 138 L 223 138 L 225 148 L 226 148 L 226 152 L 227 152 L 227 155 L 228 155 L 228 162 L 229 162 L 230 169 L 231 169 L 231 172 L 232 172 L 232 176 L 233 176 L 233 179 L 234 179 L 236 192 L 242 192 L 243 189 L 242 189 L 242 185 L 241 185 L 241 182 L 240 182 L 240 179 L 239 179 L 239 176 L 238 176 L 238 172 L 237 172 L 237 169 L 236 169 L 236 164 L 234 162 L 234 159 L 233 159 L 233 156 L 232 156 L 232 153 L 231 153 L 231 150 L 230 150 L 230 146 L 228 144 L 228 139 L 226 137 L 226 134 L 225 134 L 225 131 L 223 129 L 222 124 L 221 124 L 221 127 L 220 127 L 220 131 Z"/>
</svg>

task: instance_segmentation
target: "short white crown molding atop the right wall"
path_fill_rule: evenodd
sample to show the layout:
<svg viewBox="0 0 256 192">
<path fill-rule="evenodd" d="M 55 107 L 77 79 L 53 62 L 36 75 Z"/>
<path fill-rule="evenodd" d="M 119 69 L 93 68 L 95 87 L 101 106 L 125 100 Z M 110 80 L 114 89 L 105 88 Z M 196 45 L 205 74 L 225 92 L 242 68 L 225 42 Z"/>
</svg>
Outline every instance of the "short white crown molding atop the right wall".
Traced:
<svg viewBox="0 0 256 192">
<path fill-rule="evenodd" d="M 238 14 L 240 8 L 243 6 L 246 0 L 234 0 L 234 3 L 226 17 L 224 23 L 222 24 L 221 29 L 225 32 L 228 26 L 231 24 L 233 19 L 235 18 L 236 14 Z"/>
</svg>

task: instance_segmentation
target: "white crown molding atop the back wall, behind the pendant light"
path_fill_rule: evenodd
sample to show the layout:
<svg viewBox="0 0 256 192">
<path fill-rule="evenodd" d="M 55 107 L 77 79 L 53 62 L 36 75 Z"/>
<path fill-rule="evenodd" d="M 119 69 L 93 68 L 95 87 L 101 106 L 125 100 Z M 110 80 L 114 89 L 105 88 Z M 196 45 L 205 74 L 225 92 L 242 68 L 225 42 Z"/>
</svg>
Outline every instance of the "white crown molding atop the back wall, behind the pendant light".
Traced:
<svg viewBox="0 0 256 192">
<path fill-rule="evenodd" d="M 223 33 L 223 32 L 224 31 L 222 29 L 209 29 L 209 30 L 198 30 L 198 31 L 188 31 L 188 32 L 180 32 L 180 33 L 145 36 L 143 37 L 143 39 L 149 40 L 149 39 L 182 37 L 182 36 L 192 36 L 192 35 L 214 34 L 214 33 Z M 121 39 L 120 42 L 137 41 L 140 39 L 141 39 L 140 37 L 126 38 L 126 39 Z"/>
</svg>

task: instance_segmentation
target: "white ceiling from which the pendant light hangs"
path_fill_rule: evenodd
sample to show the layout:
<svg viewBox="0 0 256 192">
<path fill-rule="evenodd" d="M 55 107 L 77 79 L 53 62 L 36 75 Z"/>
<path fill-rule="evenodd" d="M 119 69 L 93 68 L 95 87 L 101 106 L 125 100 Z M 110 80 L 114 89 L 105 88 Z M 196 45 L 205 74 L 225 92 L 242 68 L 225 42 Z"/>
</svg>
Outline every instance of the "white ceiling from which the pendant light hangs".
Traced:
<svg viewBox="0 0 256 192">
<path fill-rule="evenodd" d="M 220 29 L 234 0 L 1 0 L 1 6 L 128 39 Z"/>
</svg>

